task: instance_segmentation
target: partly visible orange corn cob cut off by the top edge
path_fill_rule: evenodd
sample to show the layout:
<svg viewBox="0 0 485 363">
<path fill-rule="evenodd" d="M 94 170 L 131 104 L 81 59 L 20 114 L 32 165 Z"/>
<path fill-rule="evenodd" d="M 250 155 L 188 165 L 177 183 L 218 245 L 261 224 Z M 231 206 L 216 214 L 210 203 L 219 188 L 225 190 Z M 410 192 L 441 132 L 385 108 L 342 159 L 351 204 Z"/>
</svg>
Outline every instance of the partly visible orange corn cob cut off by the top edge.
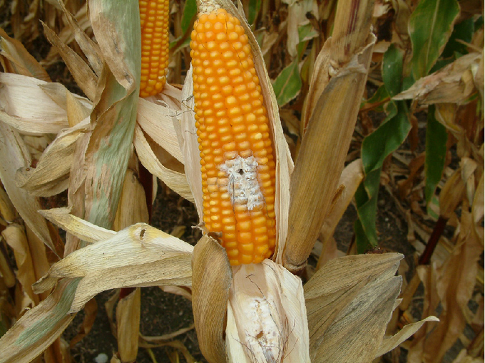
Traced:
<svg viewBox="0 0 485 363">
<path fill-rule="evenodd" d="M 168 0 L 139 0 L 141 21 L 140 96 L 160 93 L 168 67 Z"/>
</svg>

